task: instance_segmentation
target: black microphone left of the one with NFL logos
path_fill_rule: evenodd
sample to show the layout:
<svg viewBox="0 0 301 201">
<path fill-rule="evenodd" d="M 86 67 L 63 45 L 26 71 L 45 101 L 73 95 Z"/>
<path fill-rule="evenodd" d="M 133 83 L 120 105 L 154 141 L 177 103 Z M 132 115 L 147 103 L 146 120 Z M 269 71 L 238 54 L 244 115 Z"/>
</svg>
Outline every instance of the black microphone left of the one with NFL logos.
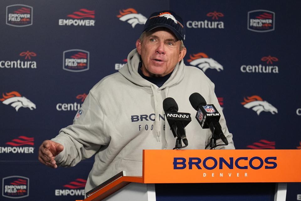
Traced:
<svg viewBox="0 0 301 201">
<path fill-rule="evenodd" d="M 187 146 L 188 141 L 186 138 L 185 127 L 191 122 L 190 113 L 179 113 L 176 101 L 170 97 L 163 100 L 163 110 L 165 112 L 165 118 L 167 119 L 170 128 L 172 128 L 173 136 L 175 138 L 181 138 L 183 143 Z"/>
</svg>

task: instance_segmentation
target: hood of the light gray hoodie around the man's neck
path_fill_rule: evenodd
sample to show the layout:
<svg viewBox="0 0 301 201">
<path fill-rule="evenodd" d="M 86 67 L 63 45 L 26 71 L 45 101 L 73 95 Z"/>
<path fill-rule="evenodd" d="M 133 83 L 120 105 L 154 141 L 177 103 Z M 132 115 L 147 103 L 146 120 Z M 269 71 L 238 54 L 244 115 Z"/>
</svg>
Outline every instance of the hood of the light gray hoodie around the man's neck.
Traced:
<svg viewBox="0 0 301 201">
<path fill-rule="evenodd" d="M 132 83 L 135 83 L 142 87 L 150 87 L 151 85 L 154 84 L 142 78 L 138 73 L 138 66 L 140 60 L 141 57 L 137 52 L 137 49 L 132 50 L 128 55 L 128 63 L 126 63 L 124 67 L 119 70 L 119 73 L 121 73 L 126 79 L 128 79 Z M 180 82 L 184 78 L 184 75 L 185 75 L 185 64 L 182 59 L 180 62 L 177 63 L 170 78 L 160 87 L 160 89 L 170 87 Z"/>
</svg>

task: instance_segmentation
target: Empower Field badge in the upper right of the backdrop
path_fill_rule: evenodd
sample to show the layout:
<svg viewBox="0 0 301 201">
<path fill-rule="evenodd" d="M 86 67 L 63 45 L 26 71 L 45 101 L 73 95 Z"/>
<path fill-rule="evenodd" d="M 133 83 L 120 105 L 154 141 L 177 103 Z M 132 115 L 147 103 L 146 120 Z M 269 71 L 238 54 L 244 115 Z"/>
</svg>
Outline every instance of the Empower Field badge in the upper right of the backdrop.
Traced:
<svg viewBox="0 0 301 201">
<path fill-rule="evenodd" d="M 275 30 L 275 13 L 268 10 L 253 10 L 248 12 L 248 30 L 269 32 Z"/>
</svg>

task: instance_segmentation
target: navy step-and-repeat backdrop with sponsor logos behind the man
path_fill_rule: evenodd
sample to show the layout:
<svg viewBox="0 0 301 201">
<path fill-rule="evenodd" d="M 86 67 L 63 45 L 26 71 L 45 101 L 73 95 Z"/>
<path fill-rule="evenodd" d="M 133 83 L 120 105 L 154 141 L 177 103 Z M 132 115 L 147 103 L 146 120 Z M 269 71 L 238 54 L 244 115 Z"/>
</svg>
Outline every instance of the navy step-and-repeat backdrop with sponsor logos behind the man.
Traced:
<svg viewBox="0 0 301 201">
<path fill-rule="evenodd" d="M 0 200 L 83 198 L 94 159 L 51 169 L 39 163 L 39 146 L 127 63 L 160 10 L 184 19 L 184 62 L 215 83 L 237 149 L 301 149 L 300 8 L 284 0 L 2 0 Z M 301 200 L 300 183 L 288 184 L 287 200 Z"/>
</svg>

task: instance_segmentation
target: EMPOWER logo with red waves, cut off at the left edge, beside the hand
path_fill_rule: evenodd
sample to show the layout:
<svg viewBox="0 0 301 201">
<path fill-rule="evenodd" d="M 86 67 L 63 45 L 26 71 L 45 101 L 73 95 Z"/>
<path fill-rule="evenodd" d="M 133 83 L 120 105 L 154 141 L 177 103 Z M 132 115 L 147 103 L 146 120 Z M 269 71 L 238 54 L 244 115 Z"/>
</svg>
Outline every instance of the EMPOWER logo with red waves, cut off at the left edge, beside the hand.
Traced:
<svg viewBox="0 0 301 201">
<path fill-rule="evenodd" d="M 0 147 L 0 153 L 34 153 L 34 138 L 19 136 L 5 144 L 10 145 L 11 147 Z"/>
</svg>

